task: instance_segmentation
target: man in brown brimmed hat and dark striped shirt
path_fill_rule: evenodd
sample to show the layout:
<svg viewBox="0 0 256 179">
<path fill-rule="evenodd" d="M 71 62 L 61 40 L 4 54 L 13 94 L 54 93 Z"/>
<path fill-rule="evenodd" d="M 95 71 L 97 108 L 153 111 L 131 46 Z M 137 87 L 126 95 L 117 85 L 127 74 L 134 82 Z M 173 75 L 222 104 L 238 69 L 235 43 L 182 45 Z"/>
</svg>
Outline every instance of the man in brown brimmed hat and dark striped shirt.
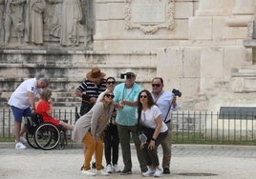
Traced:
<svg viewBox="0 0 256 179">
<path fill-rule="evenodd" d="M 77 87 L 75 94 L 82 98 L 79 115 L 86 114 L 96 103 L 98 95 L 105 91 L 105 73 L 98 68 L 93 68 L 86 74 L 86 80 Z"/>
</svg>

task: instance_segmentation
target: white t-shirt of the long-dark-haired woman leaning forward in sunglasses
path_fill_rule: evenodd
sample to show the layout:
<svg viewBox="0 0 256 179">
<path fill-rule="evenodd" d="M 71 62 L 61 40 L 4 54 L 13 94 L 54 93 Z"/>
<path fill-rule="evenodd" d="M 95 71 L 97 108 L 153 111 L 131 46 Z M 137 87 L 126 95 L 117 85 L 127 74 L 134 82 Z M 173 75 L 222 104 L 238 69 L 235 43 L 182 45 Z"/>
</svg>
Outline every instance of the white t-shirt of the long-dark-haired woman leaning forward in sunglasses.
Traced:
<svg viewBox="0 0 256 179">
<path fill-rule="evenodd" d="M 157 123 L 155 120 L 157 119 L 158 116 L 160 116 L 160 113 L 161 113 L 160 109 L 156 105 L 151 107 L 151 109 L 146 109 L 145 111 L 142 110 L 139 122 L 141 125 L 143 125 L 145 127 L 156 129 Z M 138 112 L 137 112 L 137 115 L 138 115 Z M 166 126 L 166 124 L 161 122 L 160 132 L 164 132 L 167 129 L 168 129 L 168 127 Z"/>
</svg>

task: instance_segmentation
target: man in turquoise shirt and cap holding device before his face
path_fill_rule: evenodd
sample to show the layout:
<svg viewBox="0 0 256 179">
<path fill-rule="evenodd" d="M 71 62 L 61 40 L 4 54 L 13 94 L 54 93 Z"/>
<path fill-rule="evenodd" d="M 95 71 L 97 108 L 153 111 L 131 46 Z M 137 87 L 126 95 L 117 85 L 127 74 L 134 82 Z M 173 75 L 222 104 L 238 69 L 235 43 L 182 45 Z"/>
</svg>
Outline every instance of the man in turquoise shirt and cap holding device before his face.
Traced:
<svg viewBox="0 0 256 179">
<path fill-rule="evenodd" d="M 135 83 L 136 75 L 134 72 L 126 72 L 121 75 L 123 75 L 125 78 L 125 82 L 118 84 L 114 89 L 114 101 L 117 103 L 116 123 L 124 164 L 124 169 L 121 171 L 121 174 L 126 175 L 132 174 L 130 133 L 133 135 L 134 143 L 137 149 L 137 156 L 139 159 L 139 167 L 141 172 L 147 171 L 147 166 L 142 150 L 140 149 L 139 133 L 137 128 L 138 119 L 136 117 L 137 107 L 122 105 L 123 101 L 137 101 L 141 87 Z"/>
</svg>

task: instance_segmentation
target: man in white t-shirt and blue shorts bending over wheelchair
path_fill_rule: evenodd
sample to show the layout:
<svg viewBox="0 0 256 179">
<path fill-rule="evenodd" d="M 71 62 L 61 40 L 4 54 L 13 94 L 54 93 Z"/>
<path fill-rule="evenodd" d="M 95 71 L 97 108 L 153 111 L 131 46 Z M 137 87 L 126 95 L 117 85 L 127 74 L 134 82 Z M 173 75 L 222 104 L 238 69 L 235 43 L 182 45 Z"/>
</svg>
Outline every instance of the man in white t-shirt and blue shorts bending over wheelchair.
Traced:
<svg viewBox="0 0 256 179">
<path fill-rule="evenodd" d="M 34 97 L 48 87 L 48 80 L 45 78 L 32 78 L 22 82 L 11 94 L 8 104 L 14 116 L 15 149 L 26 149 L 23 143 L 27 143 L 23 134 L 24 127 L 21 127 L 22 118 L 28 116 L 35 109 Z M 32 109 L 31 109 L 32 108 Z"/>
</svg>

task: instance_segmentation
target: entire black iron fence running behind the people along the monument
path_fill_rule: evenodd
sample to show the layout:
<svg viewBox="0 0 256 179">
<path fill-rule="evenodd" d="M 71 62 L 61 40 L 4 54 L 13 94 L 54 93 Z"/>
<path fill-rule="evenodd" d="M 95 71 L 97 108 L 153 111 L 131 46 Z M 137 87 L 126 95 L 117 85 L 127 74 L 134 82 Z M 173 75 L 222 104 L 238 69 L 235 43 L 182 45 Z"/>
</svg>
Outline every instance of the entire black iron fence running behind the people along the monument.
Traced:
<svg viewBox="0 0 256 179">
<path fill-rule="evenodd" d="M 55 109 L 57 119 L 75 124 L 78 109 Z M 254 115 L 218 113 L 212 111 L 173 111 L 173 143 L 188 144 L 249 144 L 256 143 L 256 119 Z M 11 109 L 0 109 L 0 138 L 13 138 Z M 246 117 L 245 117 L 246 116 Z"/>
</svg>

